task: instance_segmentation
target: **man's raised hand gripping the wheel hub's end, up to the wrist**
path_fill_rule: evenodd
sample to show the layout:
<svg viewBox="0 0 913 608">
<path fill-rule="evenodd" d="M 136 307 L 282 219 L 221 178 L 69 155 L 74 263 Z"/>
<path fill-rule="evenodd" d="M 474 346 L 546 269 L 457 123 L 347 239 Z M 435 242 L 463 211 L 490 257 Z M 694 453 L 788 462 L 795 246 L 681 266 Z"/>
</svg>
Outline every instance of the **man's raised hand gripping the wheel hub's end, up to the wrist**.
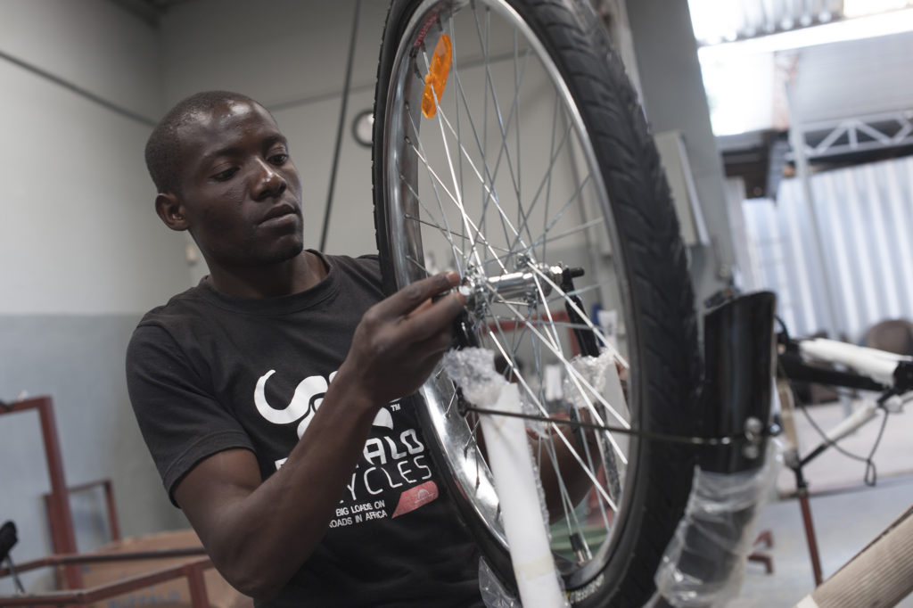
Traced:
<svg viewBox="0 0 913 608">
<path fill-rule="evenodd" d="M 415 393 L 435 369 L 463 310 L 459 276 L 446 272 L 416 281 L 368 309 L 334 383 L 357 383 L 375 406 Z"/>
</svg>

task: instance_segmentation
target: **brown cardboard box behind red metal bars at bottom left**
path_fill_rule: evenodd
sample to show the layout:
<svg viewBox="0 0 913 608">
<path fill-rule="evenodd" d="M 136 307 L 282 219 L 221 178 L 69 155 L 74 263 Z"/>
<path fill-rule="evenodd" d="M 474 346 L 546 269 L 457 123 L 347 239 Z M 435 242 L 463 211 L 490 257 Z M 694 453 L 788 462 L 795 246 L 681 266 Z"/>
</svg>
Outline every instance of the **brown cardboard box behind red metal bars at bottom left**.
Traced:
<svg viewBox="0 0 913 608">
<path fill-rule="evenodd" d="M 202 547 L 193 529 L 160 532 L 148 536 L 116 540 L 100 548 L 100 552 L 132 552 L 145 550 L 180 549 Z M 83 588 L 89 589 L 109 582 L 148 574 L 178 566 L 203 556 L 177 558 L 155 558 L 150 560 L 103 561 L 81 565 Z M 211 608 L 253 608 L 253 601 L 237 592 L 215 570 L 204 572 L 206 596 Z M 92 608 L 133 608 L 134 606 L 167 606 L 168 608 L 191 608 L 190 590 L 183 576 L 171 581 L 160 582 L 149 587 L 127 592 L 91 604 Z"/>
</svg>

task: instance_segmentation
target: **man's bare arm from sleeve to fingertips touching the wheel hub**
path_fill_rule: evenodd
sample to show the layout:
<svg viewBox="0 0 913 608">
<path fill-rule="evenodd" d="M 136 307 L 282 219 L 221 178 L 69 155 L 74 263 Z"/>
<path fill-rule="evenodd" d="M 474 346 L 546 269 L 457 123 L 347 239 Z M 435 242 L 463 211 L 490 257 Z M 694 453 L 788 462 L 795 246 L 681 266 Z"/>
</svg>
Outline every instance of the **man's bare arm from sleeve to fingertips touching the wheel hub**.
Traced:
<svg viewBox="0 0 913 608">
<path fill-rule="evenodd" d="M 226 580 L 257 598 L 275 595 L 306 561 L 362 456 L 377 411 L 415 393 L 451 340 L 463 309 L 456 273 L 418 281 L 369 309 L 320 409 L 289 454 L 261 483 L 244 449 L 205 458 L 174 488 Z"/>
</svg>

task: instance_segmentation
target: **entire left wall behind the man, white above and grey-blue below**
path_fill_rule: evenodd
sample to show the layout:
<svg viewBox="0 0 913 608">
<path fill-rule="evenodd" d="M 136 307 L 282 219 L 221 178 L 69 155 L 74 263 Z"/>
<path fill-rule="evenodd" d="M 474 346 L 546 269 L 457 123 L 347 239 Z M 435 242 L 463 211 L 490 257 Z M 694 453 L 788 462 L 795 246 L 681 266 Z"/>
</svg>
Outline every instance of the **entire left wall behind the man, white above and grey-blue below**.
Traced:
<svg viewBox="0 0 913 608">
<path fill-rule="evenodd" d="M 123 373 L 142 312 L 189 281 L 142 162 L 159 68 L 156 30 L 108 0 L 0 4 L 0 400 L 52 396 L 68 484 L 112 478 L 127 535 L 182 525 Z M 16 561 L 51 552 L 40 445 L 37 416 L 0 417 L 0 519 L 16 521 Z M 80 550 L 107 538 L 92 500 L 74 499 Z"/>
</svg>

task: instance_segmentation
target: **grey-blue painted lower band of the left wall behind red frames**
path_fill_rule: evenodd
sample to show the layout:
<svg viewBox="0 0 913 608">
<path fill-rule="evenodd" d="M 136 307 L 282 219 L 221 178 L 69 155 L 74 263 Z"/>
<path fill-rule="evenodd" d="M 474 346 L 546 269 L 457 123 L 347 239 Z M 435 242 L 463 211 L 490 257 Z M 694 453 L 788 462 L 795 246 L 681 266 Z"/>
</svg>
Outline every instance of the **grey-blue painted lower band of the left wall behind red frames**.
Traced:
<svg viewBox="0 0 913 608">
<path fill-rule="evenodd" d="M 138 320 L 0 315 L 0 399 L 23 391 L 53 398 L 68 485 L 110 477 L 123 536 L 187 525 L 165 496 L 127 398 L 123 356 Z M 41 498 L 49 488 L 37 414 L 0 416 L 0 519 L 16 521 L 16 561 L 51 552 Z M 79 550 L 108 540 L 100 493 L 74 497 L 72 507 Z M 0 579 L 6 592 L 12 584 Z"/>
</svg>

